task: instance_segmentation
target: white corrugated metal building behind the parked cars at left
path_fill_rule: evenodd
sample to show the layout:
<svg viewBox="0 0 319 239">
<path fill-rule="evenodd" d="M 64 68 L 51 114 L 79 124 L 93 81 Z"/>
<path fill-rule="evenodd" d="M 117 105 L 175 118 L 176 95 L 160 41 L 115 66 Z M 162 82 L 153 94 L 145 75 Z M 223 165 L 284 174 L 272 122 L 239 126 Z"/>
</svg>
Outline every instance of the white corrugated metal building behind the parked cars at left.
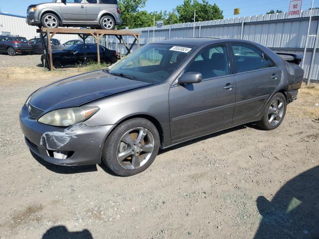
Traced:
<svg viewBox="0 0 319 239">
<path fill-rule="evenodd" d="M 29 26 L 25 22 L 25 17 L 14 16 L 5 13 L 0 13 L 0 34 L 1 32 L 10 32 L 11 35 L 24 36 L 26 39 L 31 39 L 35 36 L 39 36 L 36 33 L 36 26 Z M 62 35 L 57 34 L 54 38 L 58 39 L 61 44 L 72 39 L 77 39 L 77 35 Z"/>
</svg>

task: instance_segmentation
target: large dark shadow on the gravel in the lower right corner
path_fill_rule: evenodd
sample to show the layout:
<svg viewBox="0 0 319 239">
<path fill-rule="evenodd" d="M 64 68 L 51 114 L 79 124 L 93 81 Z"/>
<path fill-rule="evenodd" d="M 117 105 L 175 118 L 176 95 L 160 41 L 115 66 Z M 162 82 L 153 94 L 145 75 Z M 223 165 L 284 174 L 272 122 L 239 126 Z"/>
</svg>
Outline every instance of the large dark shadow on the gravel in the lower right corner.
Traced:
<svg viewBox="0 0 319 239">
<path fill-rule="evenodd" d="M 262 221 L 254 239 L 319 239 L 319 166 L 288 181 L 271 201 L 256 202 Z"/>
</svg>

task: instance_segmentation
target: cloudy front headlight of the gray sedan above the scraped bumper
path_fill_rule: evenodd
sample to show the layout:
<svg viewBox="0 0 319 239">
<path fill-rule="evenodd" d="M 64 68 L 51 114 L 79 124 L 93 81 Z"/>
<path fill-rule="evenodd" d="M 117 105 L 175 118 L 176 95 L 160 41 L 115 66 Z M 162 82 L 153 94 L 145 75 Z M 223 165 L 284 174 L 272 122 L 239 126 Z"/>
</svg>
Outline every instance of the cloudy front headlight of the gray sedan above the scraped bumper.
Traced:
<svg viewBox="0 0 319 239">
<path fill-rule="evenodd" d="M 46 113 L 38 122 L 52 126 L 70 126 L 90 118 L 99 110 L 98 107 L 75 107 Z"/>
</svg>

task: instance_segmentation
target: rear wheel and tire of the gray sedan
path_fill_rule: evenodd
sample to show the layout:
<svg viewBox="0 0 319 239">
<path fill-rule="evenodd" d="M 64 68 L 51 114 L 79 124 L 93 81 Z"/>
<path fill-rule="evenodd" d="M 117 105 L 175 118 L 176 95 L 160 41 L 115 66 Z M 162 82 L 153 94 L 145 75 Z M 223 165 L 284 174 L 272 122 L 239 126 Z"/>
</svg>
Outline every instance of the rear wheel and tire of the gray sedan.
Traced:
<svg viewBox="0 0 319 239">
<path fill-rule="evenodd" d="M 278 92 L 267 104 L 263 118 L 257 122 L 257 125 L 265 130 L 277 128 L 285 118 L 287 109 L 286 97 Z"/>
</svg>

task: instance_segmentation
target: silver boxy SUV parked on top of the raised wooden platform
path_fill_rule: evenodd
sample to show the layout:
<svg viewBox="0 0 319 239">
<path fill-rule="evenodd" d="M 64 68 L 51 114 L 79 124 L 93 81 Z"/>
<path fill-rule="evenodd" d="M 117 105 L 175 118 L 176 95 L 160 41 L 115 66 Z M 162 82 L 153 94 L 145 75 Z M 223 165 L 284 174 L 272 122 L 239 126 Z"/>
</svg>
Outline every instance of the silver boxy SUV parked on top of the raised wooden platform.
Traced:
<svg viewBox="0 0 319 239">
<path fill-rule="evenodd" d="M 91 26 L 111 30 L 122 24 L 122 18 L 117 0 L 53 0 L 29 5 L 26 23 L 49 28 Z"/>
</svg>

